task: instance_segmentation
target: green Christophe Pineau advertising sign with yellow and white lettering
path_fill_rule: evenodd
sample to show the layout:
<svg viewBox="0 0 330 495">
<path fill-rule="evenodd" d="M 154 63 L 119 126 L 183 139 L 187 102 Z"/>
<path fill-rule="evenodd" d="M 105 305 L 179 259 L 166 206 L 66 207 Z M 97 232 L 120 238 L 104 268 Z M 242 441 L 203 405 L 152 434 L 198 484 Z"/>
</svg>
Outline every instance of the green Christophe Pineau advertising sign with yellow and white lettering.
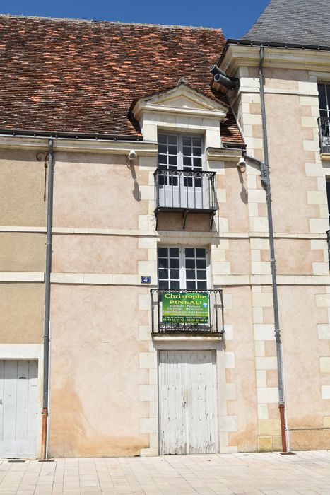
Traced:
<svg viewBox="0 0 330 495">
<path fill-rule="evenodd" d="M 162 303 L 165 323 L 208 323 L 206 292 L 164 292 Z"/>
</svg>

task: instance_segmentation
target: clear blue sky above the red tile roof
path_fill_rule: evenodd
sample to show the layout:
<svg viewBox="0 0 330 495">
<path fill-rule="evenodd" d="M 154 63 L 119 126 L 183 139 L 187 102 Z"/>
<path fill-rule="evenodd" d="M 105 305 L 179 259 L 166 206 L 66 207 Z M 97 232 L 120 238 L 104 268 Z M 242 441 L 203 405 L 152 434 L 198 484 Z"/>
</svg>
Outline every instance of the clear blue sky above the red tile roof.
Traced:
<svg viewBox="0 0 330 495">
<path fill-rule="evenodd" d="M 0 13 L 222 28 L 239 38 L 270 0 L 1 0 Z"/>
</svg>

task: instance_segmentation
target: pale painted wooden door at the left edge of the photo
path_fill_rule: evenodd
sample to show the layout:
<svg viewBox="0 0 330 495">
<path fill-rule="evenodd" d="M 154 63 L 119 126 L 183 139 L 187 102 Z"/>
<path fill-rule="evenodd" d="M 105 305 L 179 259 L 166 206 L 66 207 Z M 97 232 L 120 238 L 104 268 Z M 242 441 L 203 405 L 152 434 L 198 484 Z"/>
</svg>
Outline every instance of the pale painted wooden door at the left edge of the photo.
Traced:
<svg viewBox="0 0 330 495">
<path fill-rule="evenodd" d="M 37 395 L 37 361 L 0 361 L 0 458 L 36 456 Z"/>
</svg>

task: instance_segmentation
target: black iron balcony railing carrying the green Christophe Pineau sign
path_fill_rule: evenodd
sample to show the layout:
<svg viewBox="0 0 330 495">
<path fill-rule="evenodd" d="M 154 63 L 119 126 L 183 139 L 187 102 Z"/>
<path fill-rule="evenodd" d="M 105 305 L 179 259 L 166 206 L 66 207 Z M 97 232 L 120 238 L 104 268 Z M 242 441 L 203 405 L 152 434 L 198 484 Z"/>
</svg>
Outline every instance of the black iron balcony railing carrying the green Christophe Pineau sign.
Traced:
<svg viewBox="0 0 330 495">
<path fill-rule="evenodd" d="M 152 334 L 223 334 L 223 291 L 151 289 Z"/>
</svg>

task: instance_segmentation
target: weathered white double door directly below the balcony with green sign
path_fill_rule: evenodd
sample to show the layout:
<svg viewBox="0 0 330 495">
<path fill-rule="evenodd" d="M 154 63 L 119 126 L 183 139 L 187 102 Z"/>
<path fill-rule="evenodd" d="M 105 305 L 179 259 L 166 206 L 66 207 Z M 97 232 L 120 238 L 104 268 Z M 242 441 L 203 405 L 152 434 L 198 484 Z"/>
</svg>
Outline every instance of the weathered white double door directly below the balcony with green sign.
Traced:
<svg viewBox="0 0 330 495">
<path fill-rule="evenodd" d="M 160 455 L 218 452 L 214 351 L 159 351 Z"/>
</svg>

